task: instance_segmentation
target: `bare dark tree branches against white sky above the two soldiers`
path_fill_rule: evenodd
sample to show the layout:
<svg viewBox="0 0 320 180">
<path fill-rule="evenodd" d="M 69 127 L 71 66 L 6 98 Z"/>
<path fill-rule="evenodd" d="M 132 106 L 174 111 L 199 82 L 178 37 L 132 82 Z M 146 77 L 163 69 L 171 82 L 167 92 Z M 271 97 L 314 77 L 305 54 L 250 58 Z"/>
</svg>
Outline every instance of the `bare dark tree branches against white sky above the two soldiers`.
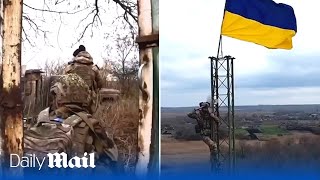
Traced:
<svg viewBox="0 0 320 180">
<path fill-rule="evenodd" d="M 49 4 L 48 4 L 48 3 Z M 99 0 L 95 0 L 93 3 L 92 1 L 87 1 L 84 0 L 83 3 L 81 5 L 85 5 L 85 7 L 82 7 L 80 10 L 77 10 L 80 8 L 79 4 L 76 4 L 75 8 L 73 8 L 73 10 L 54 10 L 52 9 L 54 6 L 56 5 L 60 5 L 62 3 L 68 3 L 70 4 L 70 0 L 43 0 L 43 7 L 42 8 L 36 8 L 36 7 L 32 7 L 29 4 L 24 3 L 23 5 L 25 7 L 27 7 L 30 10 L 34 10 L 34 11 L 39 11 L 42 12 L 42 17 L 43 17 L 43 21 L 45 22 L 45 17 L 43 16 L 44 13 L 52 13 L 52 14 L 59 14 L 60 16 L 60 21 L 62 21 L 61 19 L 61 15 L 75 15 L 78 14 L 80 12 L 84 12 L 85 10 L 89 10 L 88 14 L 82 18 L 80 20 L 80 22 L 78 23 L 78 26 L 76 29 L 78 29 L 80 26 L 83 27 L 83 30 L 80 31 L 79 37 L 76 39 L 76 42 L 73 43 L 72 45 L 79 43 L 86 35 L 87 31 L 91 29 L 91 36 L 93 36 L 94 32 L 94 28 L 98 28 L 98 24 L 102 26 L 102 20 L 100 17 L 101 12 L 105 12 L 104 6 L 106 5 L 100 5 L 102 2 L 106 2 L 106 3 L 110 3 L 113 2 L 115 3 L 118 7 L 120 7 L 123 10 L 123 13 L 121 13 L 122 15 L 120 15 L 119 17 L 117 17 L 114 21 L 124 21 L 127 23 L 127 25 L 129 25 L 129 29 L 131 31 L 131 35 L 132 38 L 135 37 L 135 34 L 137 34 L 137 22 L 138 22 L 138 13 L 137 13 L 137 3 L 133 0 L 105 0 L 105 1 L 99 1 Z M 100 6 L 99 6 L 100 5 Z M 68 6 L 65 6 L 68 7 Z M 92 18 L 92 20 L 88 21 L 88 18 Z M 122 20 L 121 20 L 122 19 Z M 36 23 L 28 16 L 25 16 L 24 20 L 29 21 L 28 24 L 30 25 L 31 29 L 36 33 L 43 33 L 44 37 L 46 37 L 46 33 L 48 33 L 48 31 L 42 30 L 40 29 Z M 39 19 L 37 19 L 39 20 Z M 31 25 L 33 24 L 33 25 Z M 61 24 L 60 24 L 61 26 Z M 60 31 L 60 28 L 59 28 Z M 26 35 L 28 33 L 27 29 L 25 29 L 25 33 L 24 35 Z M 29 36 L 30 37 L 30 36 Z M 31 39 L 29 38 L 29 40 L 31 41 Z M 28 41 L 29 42 L 29 41 Z"/>
</svg>

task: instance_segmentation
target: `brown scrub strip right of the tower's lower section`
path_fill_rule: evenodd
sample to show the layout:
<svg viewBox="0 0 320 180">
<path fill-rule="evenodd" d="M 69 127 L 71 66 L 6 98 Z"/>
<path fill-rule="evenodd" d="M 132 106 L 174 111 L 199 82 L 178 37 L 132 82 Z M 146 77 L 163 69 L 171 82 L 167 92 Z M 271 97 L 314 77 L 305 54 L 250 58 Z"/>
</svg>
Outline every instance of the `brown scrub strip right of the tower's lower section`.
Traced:
<svg viewBox="0 0 320 180">
<path fill-rule="evenodd" d="M 302 136 L 283 141 L 271 139 L 252 144 L 240 141 L 237 147 L 238 166 L 265 168 L 314 167 L 320 161 L 320 137 Z M 319 168 L 319 167 L 318 167 Z"/>
</svg>

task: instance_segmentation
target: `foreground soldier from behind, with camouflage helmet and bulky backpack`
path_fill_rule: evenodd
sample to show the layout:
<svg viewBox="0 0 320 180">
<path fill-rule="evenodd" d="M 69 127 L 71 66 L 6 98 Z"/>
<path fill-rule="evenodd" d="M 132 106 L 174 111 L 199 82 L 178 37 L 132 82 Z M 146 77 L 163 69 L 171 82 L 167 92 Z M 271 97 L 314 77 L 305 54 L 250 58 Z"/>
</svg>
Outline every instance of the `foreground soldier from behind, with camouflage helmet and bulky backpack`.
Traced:
<svg viewBox="0 0 320 180">
<path fill-rule="evenodd" d="M 63 75 L 50 92 L 54 102 L 40 112 L 36 125 L 25 132 L 25 151 L 44 156 L 54 152 L 76 156 L 95 152 L 98 163 L 113 167 L 118 159 L 117 146 L 102 121 L 88 113 L 91 99 L 84 80 L 76 74 Z"/>
</svg>

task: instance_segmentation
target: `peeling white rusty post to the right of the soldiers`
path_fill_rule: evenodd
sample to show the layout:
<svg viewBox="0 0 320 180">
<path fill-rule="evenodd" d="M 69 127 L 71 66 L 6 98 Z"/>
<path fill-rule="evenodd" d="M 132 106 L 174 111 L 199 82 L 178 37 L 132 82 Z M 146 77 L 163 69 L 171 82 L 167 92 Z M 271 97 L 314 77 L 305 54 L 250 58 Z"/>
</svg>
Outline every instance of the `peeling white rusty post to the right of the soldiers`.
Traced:
<svg viewBox="0 0 320 180">
<path fill-rule="evenodd" d="M 151 1 L 138 0 L 139 36 L 152 34 Z M 145 177 L 150 162 L 152 105 L 153 105 L 153 58 L 152 48 L 140 49 L 141 84 L 139 95 L 138 162 L 136 174 Z"/>
</svg>

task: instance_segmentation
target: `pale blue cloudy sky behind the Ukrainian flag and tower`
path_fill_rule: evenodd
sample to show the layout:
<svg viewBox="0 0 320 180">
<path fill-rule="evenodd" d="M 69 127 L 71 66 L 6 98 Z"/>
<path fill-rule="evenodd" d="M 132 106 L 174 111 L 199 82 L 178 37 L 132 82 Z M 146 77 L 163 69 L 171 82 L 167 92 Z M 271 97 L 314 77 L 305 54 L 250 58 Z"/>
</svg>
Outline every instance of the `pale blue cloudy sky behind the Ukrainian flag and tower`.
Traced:
<svg viewBox="0 0 320 180">
<path fill-rule="evenodd" d="M 292 50 L 269 50 L 223 37 L 235 60 L 235 104 L 320 103 L 320 15 L 316 0 L 277 0 L 295 10 Z M 216 56 L 224 0 L 171 0 L 160 4 L 161 104 L 195 106 L 210 95 L 210 61 Z"/>
</svg>

